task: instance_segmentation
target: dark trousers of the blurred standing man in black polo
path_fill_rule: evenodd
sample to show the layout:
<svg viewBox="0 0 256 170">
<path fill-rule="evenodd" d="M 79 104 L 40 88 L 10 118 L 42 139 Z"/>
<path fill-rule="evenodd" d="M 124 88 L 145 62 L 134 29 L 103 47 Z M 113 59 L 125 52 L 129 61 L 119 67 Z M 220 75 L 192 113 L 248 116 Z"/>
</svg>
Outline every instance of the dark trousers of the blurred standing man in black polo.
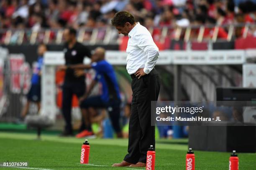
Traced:
<svg viewBox="0 0 256 170">
<path fill-rule="evenodd" d="M 64 85 L 62 87 L 62 114 L 66 122 L 65 131 L 67 132 L 72 132 L 71 109 L 73 95 L 76 95 L 78 98 L 82 97 L 82 95 L 84 95 L 85 88 L 84 80 L 64 81 Z M 81 129 L 83 126 L 84 121 L 82 120 Z"/>
</svg>

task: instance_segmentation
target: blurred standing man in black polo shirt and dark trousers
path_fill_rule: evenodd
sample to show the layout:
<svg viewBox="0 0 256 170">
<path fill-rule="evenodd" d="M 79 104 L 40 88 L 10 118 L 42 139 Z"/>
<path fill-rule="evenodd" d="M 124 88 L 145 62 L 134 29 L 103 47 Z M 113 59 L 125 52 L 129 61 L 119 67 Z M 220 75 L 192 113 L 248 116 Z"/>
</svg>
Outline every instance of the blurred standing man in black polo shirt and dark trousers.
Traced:
<svg viewBox="0 0 256 170">
<path fill-rule="evenodd" d="M 60 66 L 60 70 L 66 70 L 63 95 L 62 95 L 62 113 L 66 122 L 65 128 L 61 136 L 72 136 L 72 123 L 71 123 L 71 108 L 72 108 L 72 96 L 76 95 L 78 98 L 82 97 L 86 91 L 85 76 L 75 75 L 74 70 L 70 68 L 70 65 L 82 64 L 84 57 L 91 57 L 90 50 L 77 42 L 77 31 L 74 28 L 66 28 L 64 30 L 64 39 L 66 41 L 64 45 L 64 57 L 65 65 Z M 80 131 L 84 130 L 84 122 Z"/>
</svg>

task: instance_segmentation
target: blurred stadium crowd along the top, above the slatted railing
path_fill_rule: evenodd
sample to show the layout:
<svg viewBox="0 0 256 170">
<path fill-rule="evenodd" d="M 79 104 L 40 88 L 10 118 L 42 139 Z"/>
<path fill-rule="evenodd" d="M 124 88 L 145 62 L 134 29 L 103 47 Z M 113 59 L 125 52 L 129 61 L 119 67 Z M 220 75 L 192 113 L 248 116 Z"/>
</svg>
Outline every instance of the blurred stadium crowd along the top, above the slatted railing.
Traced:
<svg viewBox="0 0 256 170">
<path fill-rule="evenodd" d="M 256 21 L 256 0 L 1 0 L 0 28 L 102 27 L 119 10 L 146 27 Z"/>
</svg>

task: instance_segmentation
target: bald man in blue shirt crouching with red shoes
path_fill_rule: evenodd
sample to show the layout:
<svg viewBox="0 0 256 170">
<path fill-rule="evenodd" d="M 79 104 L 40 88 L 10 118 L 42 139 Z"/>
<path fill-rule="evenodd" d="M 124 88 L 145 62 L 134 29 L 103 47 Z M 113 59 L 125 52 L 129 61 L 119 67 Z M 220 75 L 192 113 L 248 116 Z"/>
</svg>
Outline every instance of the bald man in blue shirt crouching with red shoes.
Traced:
<svg viewBox="0 0 256 170">
<path fill-rule="evenodd" d="M 102 47 L 96 48 L 92 55 L 92 62 L 90 65 L 73 65 L 73 69 L 90 69 L 93 68 L 96 71 L 95 78 L 89 86 L 89 89 L 84 96 L 79 98 L 80 108 L 82 111 L 82 117 L 86 124 L 86 130 L 77 134 L 77 138 L 83 138 L 85 136 L 94 135 L 91 128 L 91 115 L 88 111 L 89 107 L 93 108 L 105 108 L 108 110 L 110 120 L 112 122 L 113 129 L 118 138 L 123 138 L 123 133 L 120 129 L 120 91 L 118 82 L 115 76 L 115 71 L 106 60 L 105 50 Z M 77 72 L 79 74 L 79 72 Z M 102 85 L 101 95 L 90 96 L 92 89 L 97 82 Z"/>
</svg>

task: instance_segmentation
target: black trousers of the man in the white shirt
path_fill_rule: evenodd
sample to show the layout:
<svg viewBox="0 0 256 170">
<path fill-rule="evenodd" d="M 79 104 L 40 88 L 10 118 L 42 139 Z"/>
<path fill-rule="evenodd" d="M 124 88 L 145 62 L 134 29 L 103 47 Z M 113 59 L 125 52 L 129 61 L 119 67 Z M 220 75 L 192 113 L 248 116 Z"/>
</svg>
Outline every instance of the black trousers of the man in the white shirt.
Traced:
<svg viewBox="0 0 256 170">
<path fill-rule="evenodd" d="M 155 147 L 155 127 L 151 126 L 151 101 L 156 101 L 160 90 L 160 78 L 156 69 L 140 79 L 132 80 L 133 99 L 129 121 L 128 163 L 146 163 L 150 145 Z"/>
</svg>

